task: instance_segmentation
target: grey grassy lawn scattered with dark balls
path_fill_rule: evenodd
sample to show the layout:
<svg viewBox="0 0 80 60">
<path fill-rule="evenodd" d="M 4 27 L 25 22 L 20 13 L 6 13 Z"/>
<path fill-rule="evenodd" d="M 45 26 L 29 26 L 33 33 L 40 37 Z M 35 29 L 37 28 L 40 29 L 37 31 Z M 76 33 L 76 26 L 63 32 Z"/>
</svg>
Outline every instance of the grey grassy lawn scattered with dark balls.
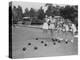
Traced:
<svg viewBox="0 0 80 60">
<path fill-rule="evenodd" d="M 35 40 L 34 38 L 46 38 Z M 58 43 L 56 45 L 48 39 L 50 38 L 50 31 L 43 33 L 43 30 L 30 28 L 30 27 L 17 27 L 12 31 L 12 50 L 13 58 L 31 58 L 31 57 L 46 57 L 46 56 L 63 56 L 63 55 L 75 55 L 78 53 L 78 38 L 74 38 L 70 33 L 56 33 L 54 31 L 53 37 L 63 37 L 64 39 L 74 39 L 74 43 L 65 42 Z M 44 41 L 44 43 L 41 43 Z M 29 46 L 28 43 L 31 43 Z M 47 44 L 47 46 L 45 46 Z M 26 48 L 23 51 L 23 48 Z M 37 50 L 34 50 L 37 47 Z"/>
</svg>

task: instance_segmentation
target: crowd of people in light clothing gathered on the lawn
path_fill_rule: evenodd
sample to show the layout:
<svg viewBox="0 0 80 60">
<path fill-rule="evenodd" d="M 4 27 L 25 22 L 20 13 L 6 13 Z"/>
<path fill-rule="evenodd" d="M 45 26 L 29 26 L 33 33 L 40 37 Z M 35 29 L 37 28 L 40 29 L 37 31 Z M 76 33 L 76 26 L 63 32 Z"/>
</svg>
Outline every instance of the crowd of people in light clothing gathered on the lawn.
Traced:
<svg viewBox="0 0 80 60">
<path fill-rule="evenodd" d="M 73 24 L 69 19 L 64 19 L 61 16 L 45 16 L 45 22 L 43 23 L 44 30 L 71 32 L 75 34 L 77 32 L 76 25 Z"/>
</svg>

